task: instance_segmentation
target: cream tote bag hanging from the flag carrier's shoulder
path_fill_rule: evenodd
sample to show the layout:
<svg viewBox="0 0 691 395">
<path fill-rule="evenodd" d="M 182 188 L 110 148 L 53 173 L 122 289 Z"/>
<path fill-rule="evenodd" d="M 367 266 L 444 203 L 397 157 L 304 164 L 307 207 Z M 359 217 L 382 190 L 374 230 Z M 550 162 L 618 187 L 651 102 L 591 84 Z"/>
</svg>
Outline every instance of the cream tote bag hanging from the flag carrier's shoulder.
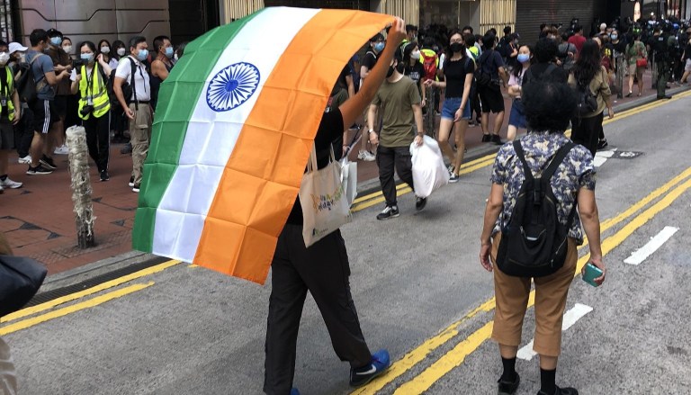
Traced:
<svg viewBox="0 0 691 395">
<path fill-rule="evenodd" d="M 319 169 L 317 151 L 312 148 L 307 172 L 300 185 L 302 238 L 310 247 L 342 225 L 350 222 L 350 204 L 341 182 L 341 166 L 331 147 L 328 165 Z"/>
</svg>

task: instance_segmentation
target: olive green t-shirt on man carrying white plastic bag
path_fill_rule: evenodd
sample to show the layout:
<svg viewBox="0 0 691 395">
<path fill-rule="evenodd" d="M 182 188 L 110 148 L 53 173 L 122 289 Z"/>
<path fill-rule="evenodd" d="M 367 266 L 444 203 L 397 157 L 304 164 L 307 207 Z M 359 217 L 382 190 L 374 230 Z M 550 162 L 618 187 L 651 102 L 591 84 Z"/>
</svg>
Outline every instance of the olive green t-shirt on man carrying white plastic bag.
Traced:
<svg viewBox="0 0 691 395">
<path fill-rule="evenodd" d="M 379 144 L 382 147 L 408 147 L 415 139 L 413 104 L 422 100 L 415 82 L 403 76 L 399 81 L 384 81 L 372 104 L 379 106 L 383 119 Z"/>
</svg>

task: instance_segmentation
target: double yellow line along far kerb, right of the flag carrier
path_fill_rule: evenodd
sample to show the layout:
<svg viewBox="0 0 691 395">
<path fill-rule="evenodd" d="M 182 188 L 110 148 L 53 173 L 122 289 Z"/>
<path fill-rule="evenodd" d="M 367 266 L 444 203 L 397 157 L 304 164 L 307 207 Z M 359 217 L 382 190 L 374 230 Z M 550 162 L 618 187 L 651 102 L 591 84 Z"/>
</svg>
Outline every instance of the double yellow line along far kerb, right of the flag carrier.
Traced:
<svg viewBox="0 0 691 395">
<path fill-rule="evenodd" d="M 603 122 L 603 125 L 607 125 L 609 123 L 612 123 L 614 121 L 619 121 L 624 118 L 628 118 L 632 115 L 645 112 L 648 110 L 651 110 L 653 108 L 660 107 L 661 105 L 665 105 L 670 102 L 675 102 L 680 99 L 683 99 L 685 97 L 691 96 L 691 91 L 684 92 L 682 94 L 677 94 L 672 99 L 666 100 L 666 101 L 656 101 L 648 104 L 643 104 L 642 106 L 635 107 L 631 110 L 627 110 L 625 112 L 617 113 L 615 114 L 615 118 L 613 119 L 606 119 Z M 570 137 L 571 131 L 567 130 L 566 135 L 567 137 Z M 461 166 L 461 175 L 467 175 L 469 173 L 472 173 L 476 170 L 480 170 L 481 168 L 491 166 L 494 164 L 494 158 L 497 157 L 497 154 L 489 154 L 484 157 L 479 157 L 475 160 L 472 160 L 471 162 L 464 163 Z M 398 184 L 396 185 L 396 189 L 399 195 L 403 195 L 406 193 L 411 193 L 413 190 L 408 186 L 408 184 Z M 381 204 L 385 202 L 385 199 L 383 198 L 383 195 L 381 192 L 376 192 L 376 193 L 369 193 L 364 196 L 358 197 L 357 199 L 354 200 L 353 202 L 353 208 L 351 211 L 357 212 L 357 211 L 363 211 L 365 209 L 368 209 L 372 206 L 375 206 L 377 204 Z"/>
</svg>

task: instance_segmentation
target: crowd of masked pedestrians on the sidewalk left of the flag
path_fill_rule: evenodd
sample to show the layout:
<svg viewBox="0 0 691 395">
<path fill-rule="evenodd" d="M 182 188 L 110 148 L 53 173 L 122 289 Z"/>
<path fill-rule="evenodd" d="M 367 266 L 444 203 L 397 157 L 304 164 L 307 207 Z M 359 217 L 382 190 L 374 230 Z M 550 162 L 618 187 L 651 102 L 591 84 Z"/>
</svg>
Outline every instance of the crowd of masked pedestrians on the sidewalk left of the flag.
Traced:
<svg viewBox="0 0 691 395">
<path fill-rule="evenodd" d="M 144 37 L 96 45 L 73 42 L 55 29 L 31 31 L 29 42 L 0 41 L 0 193 L 22 187 L 7 176 L 10 152 L 28 165 L 26 175 L 49 175 L 58 169 L 54 156 L 68 153 L 72 125 L 84 126 L 102 182 L 111 177 L 111 142 L 128 143 L 122 152 L 132 154 L 129 184 L 139 192 L 158 89 L 184 43 L 175 49 L 158 36 L 149 53 Z"/>
</svg>

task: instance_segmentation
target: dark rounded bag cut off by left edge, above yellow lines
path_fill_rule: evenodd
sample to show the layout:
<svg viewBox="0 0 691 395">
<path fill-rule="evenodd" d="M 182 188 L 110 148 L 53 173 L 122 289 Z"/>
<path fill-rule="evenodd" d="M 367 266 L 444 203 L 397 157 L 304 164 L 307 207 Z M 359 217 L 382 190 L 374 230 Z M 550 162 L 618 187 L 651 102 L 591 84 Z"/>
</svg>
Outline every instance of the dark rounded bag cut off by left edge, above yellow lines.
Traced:
<svg viewBox="0 0 691 395">
<path fill-rule="evenodd" d="M 13 313 L 31 301 L 48 271 L 24 256 L 0 256 L 0 317 Z"/>
</svg>

